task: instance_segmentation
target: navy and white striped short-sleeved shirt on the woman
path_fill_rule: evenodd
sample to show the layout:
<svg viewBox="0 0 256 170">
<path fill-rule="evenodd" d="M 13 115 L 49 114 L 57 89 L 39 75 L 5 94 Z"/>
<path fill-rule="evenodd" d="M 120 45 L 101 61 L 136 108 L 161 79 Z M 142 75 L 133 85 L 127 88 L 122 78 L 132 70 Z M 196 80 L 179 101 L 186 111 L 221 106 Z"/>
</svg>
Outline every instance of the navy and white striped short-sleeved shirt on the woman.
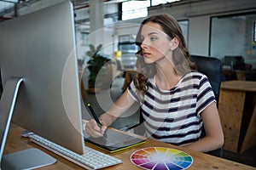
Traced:
<svg viewBox="0 0 256 170">
<path fill-rule="evenodd" d="M 139 101 L 133 82 L 128 92 Z M 141 102 L 145 136 L 176 145 L 195 142 L 201 136 L 201 111 L 212 102 L 216 102 L 212 87 L 200 72 L 188 73 L 170 90 L 161 90 L 154 78 L 148 79 Z"/>
</svg>

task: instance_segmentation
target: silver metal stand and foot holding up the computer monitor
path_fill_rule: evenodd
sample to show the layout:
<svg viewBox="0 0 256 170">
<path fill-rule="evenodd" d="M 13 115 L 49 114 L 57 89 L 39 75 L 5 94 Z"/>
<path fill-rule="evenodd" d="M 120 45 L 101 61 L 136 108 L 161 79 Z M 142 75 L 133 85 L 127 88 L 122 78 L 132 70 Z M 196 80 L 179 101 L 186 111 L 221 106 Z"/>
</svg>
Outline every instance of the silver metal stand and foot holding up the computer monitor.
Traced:
<svg viewBox="0 0 256 170">
<path fill-rule="evenodd" d="M 3 149 L 6 143 L 7 135 L 9 132 L 9 125 L 11 117 L 15 108 L 15 101 L 20 88 L 20 83 L 23 82 L 23 78 L 11 77 L 3 88 L 3 94 L 0 100 L 1 111 L 1 135 L 0 139 L 0 169 L 34 169 L 38 167 L 44 167 L 55 163 L 56 159 L 47 155 L 42 150 L 35 148 L 20 150 L 15 153 L 6 154 L 3 156 Z"/>
</svg>

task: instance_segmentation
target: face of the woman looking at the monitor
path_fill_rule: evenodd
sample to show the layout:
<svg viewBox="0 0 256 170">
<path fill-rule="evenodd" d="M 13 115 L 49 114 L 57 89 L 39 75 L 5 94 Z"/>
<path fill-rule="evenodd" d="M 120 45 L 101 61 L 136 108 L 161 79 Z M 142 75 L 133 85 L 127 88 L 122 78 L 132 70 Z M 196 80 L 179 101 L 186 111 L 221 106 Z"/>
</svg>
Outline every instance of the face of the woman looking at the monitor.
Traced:
<svg viewBox="0 0 256 170">
<path fill-rule="evenodd" d="M 159 24 L 148 22 L 141 31 L 141 48 L 145 63 L 154 63 L 172 54 L 172 41 Z"/>
</svg>

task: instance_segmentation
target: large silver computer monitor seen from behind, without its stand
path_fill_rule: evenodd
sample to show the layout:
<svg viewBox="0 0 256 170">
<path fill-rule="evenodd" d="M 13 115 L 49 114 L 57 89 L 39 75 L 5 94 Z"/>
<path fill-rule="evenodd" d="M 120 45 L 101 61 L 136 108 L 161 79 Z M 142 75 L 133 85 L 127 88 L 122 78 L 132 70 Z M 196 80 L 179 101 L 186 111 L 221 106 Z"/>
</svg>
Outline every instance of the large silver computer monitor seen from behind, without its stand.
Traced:
<svg viewBox="0 0 256 170">
<path fill-rule="evenodd" d="M 12 77 L 23 80 L 12 122 L 83 154 L 72 3 L 0 23 L 0 68 L 3 92 Z"/>
</svg>

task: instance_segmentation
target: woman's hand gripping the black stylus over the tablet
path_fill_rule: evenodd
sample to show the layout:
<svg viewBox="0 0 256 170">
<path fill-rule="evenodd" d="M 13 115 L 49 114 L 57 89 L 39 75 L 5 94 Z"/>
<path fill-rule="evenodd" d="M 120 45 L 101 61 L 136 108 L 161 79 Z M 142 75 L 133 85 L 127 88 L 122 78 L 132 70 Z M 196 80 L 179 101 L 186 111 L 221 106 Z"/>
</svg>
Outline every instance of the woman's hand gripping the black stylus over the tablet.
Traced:
<svg viewBox="0 0 256 170">
<path fill-rule="evenodd" d="M 98 138 L 104 135 L 106 129 L 106 125 L 102 123 L 102 126 L 100 126 L 94 119 L 91 119 L 89 122 L 86 122 L 85 133 L 93 138 Z"/>
</svg>

